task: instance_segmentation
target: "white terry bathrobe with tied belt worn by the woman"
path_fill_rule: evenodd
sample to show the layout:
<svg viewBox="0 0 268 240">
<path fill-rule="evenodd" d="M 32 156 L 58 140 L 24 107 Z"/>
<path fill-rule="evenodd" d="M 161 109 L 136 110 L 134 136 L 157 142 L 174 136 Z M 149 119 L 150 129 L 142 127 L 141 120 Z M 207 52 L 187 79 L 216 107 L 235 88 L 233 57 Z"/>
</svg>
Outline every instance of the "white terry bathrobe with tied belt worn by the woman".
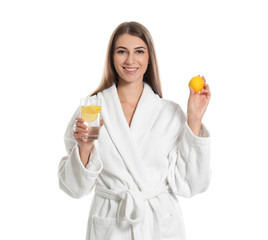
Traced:
<svg viewBox="0 0 268 240">
<path fill-rule="evenodd" d="M 131 126 L 116 86 L 98 93 L 104 126 L 89 163 L 83 166 L 73 137 L 65 133 L 67 156 L 59 165 L 60 188 L 74 198 L 95 186 L 87 240 L 184 240 L 176 195 L 205 191 L 210 180 L 210 137 L 195 136 L 179 105 L 159 98 L 144 84 Z"/>
</svg>

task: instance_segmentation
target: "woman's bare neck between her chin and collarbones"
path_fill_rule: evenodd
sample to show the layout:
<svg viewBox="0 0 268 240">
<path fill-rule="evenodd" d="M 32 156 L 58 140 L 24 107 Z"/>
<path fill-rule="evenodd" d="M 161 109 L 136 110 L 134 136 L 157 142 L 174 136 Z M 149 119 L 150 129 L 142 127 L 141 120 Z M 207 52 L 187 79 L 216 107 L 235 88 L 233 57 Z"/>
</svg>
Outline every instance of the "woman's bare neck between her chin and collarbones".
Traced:
<svg viewBox="0 0 268 240">
<path fill-rule="evenodd" d="M 117 93 L 121 103 L 136 104 L 143 91 L 143 82 L 122 83 L 119 81 Z"/>
</svg>

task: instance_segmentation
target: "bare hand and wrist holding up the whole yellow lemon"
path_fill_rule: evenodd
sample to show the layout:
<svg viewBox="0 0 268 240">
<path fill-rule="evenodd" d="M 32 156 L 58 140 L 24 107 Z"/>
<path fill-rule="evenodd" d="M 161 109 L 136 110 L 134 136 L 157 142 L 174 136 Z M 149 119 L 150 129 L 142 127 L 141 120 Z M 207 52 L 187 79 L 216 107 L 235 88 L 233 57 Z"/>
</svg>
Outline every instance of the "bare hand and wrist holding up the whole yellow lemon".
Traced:
<svg viewBox="0 0 268 240">
<path fill-rule="evenodd" d="M 191 87 L 189 87 L 190 96 L 187 106 L 187 121 L 189 126 L 201 125 L 202 118 L 210 101 L 211 93 L 209 85 L 206 83 L 206 79 L 203 76 L 202 78 L 204 80 L 204 87 L 200 92 L 196 93 Z"/>
</svg>

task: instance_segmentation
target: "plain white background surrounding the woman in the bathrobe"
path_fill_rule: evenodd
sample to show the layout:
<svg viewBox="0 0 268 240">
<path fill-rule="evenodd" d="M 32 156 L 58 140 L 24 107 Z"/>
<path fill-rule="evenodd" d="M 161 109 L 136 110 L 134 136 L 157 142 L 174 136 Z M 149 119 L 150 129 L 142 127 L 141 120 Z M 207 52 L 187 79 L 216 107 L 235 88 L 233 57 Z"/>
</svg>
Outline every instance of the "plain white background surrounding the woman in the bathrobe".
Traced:
<svg viewBox="0 0 268 240">
<path fill-rule="evenodd" d="M 0 239 L 85 239 L 92 195 L 59 190 L 63 134 L 101 79 L 124 21 L 151 32 L 164 97 L 186 111 L 201 74 L 212 99 L 207 192 L 180 198 L 188 240 L 267 240 L 267 5 L 261 0 L 0 3 Z"/>
</svg>

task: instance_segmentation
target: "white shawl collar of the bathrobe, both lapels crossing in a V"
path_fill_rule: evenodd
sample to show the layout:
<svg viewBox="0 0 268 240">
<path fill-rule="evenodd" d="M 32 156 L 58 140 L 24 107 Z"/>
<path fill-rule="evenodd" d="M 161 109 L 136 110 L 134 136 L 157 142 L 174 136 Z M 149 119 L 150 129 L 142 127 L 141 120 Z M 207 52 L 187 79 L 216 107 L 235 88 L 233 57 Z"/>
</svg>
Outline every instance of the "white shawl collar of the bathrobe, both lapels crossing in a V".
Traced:
<svg viewBox="0 0 268 240">
<path fill-rule="evenodd" d="M 144 172 L 143 161 L 139 156 L 135 134 L 144 134 L 153 126 L 160 109 L 160 99 L 151 87 L 144 84 L 142 96 L 134 113 L 131 126 L 128 126 L 117 94 L 116 86 L 99 93 L 103 98 L 102 116 L 107 132 L 121 155 L 128 171 L 140 190 L 149 177 Z M 147 181 L 146 181 L 147 182 Z"/>
</svg>

